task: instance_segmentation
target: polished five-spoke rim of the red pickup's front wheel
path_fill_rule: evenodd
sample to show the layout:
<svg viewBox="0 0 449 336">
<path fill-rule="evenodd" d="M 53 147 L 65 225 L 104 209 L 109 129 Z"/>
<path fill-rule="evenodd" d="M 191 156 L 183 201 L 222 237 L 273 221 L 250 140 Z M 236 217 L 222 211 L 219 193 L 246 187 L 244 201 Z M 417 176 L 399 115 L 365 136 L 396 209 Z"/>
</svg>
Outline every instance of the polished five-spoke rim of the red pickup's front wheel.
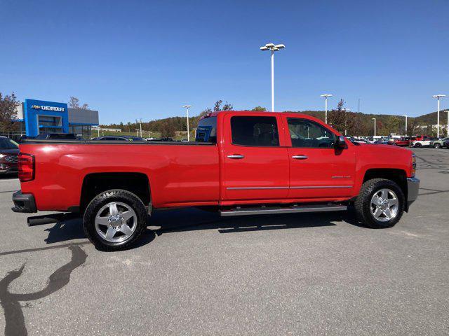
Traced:
<svg viewBox="0 0 449 336">
<path fill-rule="evenodd" d="M 391 189 L 380 189 L 371 197 L 371 214 L 377 221 L 387 222 L 398 215 L 399 201 Z"/>
</svg>

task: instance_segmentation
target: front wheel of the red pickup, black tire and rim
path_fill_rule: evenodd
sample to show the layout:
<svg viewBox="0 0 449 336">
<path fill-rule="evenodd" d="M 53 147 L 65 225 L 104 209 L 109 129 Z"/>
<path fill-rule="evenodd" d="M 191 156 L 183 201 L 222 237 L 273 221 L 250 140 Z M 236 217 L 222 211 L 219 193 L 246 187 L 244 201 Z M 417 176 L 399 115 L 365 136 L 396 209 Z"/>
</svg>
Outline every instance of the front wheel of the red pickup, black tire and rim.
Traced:
<svg viewBox="0 0 449 336">
<path fill-rule="evenodd" d="M 391 228 L 401 219 L 405 197 L 399 186 L 387 179 L 371 179 L 363 186 L 354 204 L 358 221 L 370 228 Z"/>
</svg>

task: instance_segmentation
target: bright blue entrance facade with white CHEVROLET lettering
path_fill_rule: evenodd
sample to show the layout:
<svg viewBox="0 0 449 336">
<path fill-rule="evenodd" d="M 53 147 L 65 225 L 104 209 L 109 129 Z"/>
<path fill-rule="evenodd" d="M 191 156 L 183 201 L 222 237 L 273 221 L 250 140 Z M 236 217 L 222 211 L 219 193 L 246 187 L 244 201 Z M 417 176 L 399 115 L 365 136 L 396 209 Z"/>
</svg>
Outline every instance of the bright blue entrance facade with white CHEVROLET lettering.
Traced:
<svg viewBox="0 0 449 336">
<path fill-rule="evenodd" d="M 25 99 L 23 112 L 28 137 L 42 132 L 69 132 L 67 104 Z"/>
</svg>

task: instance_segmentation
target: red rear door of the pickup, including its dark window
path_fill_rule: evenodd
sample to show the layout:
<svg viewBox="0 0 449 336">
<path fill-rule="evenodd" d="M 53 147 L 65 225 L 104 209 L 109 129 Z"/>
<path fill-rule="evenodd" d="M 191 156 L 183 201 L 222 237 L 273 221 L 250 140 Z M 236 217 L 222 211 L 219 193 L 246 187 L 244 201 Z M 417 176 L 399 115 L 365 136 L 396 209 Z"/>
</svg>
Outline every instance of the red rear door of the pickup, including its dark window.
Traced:
<svg viewBox="0 0 449 336">
<path fill-rule="evenodd" d="M 288 195 L 288 155 L 278 113 L 223 118 L 222 200 L 277 200 Z"/>
</svg>

